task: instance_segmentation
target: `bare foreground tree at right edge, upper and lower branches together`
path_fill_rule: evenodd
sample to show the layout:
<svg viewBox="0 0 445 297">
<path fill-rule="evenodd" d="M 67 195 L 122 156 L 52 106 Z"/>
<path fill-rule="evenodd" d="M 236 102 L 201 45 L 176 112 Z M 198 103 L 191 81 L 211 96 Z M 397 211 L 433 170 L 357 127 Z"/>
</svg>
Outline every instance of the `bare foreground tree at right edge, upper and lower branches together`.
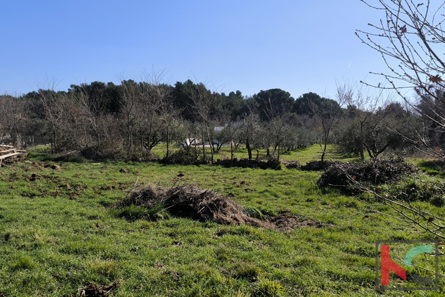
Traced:
<svg viewBox="0 0 445 297">
<path fill-rule="evenodd" d="M 378 0 L 378 5 L 372 5 L 370 1 L 362 1 L 370 8 L 385 13 L 385 18 L 381 19 L 379 24 L 369 24 L 370 31 L 357 31 L 357 36 L 364 44 L 378 51 L 389 70 L 386 74 L 371 72 L 382 76 L 388 84 L 388 86 L 378 84 L 375 87 L 394 90 L 414 111 L 435 122 L 443 131 L 445 100 L 439 94 L 445 88 L 445 81 L 441 77 L 445 74 L 445 61 L 442 58 L 445 43 L 442 29 L 445 17 L 442 10 L 445 2 Z M 434 107 L 432 113 L 410 102 L 407 97 L 407 91 L 410 90 L 414 90 L 419 96 L 428 96 L 431 99 L 431 106 Z M 423 143 L 427 148 L 426 152 L 432 156 L 445 158 L 441 147 L 432 147 L 423 138 L 419 138 L 418 142 Z M 403 230 L 416 226 L 420 232 L 445 238 L 445 220 L 442 215 L 437 215 L 437 211 L 399 200 L 391 195 L 381 195 L 378 189 L 373 191 L 364 188 L 355 182 L 353 177 L 349 179 L 350 182 L 362 187 L 362 191 L 373 193 L 377 198 L 378 203 L 369 204 L 369 212 L 394 219 L 401 223 L 398 226 Z M 382 206 L 389 210 L 382 211 Z"/>
</svg>

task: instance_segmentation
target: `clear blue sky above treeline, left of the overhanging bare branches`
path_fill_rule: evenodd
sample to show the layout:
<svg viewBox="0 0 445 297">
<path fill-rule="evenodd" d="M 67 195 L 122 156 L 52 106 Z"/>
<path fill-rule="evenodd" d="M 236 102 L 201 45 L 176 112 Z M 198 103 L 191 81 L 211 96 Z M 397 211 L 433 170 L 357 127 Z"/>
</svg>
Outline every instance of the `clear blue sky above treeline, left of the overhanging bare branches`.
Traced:
<svg viewBox="0 0 445 297">
<path fill-rule="evenodd" d="M 384 15 L 359 0 L 1 1 L 0 94 L 56 81 L 202 81 L 219 92 L 281 88 L 334 98 L 336 81 L 381 81 L 355 29 Z"/>
</svg>

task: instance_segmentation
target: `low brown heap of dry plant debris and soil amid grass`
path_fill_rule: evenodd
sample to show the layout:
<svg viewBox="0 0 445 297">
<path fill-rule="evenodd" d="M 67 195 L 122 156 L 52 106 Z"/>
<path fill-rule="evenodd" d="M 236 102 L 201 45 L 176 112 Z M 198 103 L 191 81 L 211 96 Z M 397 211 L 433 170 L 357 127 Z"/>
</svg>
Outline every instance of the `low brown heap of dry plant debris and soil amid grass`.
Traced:
<svg viewBox="0 0 445 297">
<path fill-rule="evenodd" d="M 251 225 L 273 230 L 292 230 L 302 226 L 328 227 L 332 225 L 316 223 L 292 214 L 265 216 L 264 220 L 251 218 L 232 198 L 219 195 L 215 191 L 202 190 L 192 185 L 163 188 L 148 186 L 133 190 L 116 207 L 143 207 L 151 209 L 163 204 L 169 214 L 194 220 L 211 220 L 223 225 Z"/>
</svg>

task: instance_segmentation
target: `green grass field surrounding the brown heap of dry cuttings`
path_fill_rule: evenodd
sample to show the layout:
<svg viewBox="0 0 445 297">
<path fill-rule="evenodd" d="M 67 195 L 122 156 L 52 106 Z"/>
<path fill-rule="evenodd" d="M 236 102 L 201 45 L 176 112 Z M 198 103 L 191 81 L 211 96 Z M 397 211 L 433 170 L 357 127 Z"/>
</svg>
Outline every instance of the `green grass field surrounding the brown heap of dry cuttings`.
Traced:
<svg viewBox="0 0 445 297">
<path fill-rule="evenodd" d="M 343 159 L 334 147 L 328 153 Z M 313 146 L 283 159 L 305 163 L 318 154 Z M 113 296 L 401 296 L 375 291 L 375 241 L 421 239 L 379 216 L 352 216 L 364 205 L 319 188 L 321 172 L 111 161 L 61 162 L 54 170 L 42 156 L 0 168 L 0 296 L 76 296 L 87 282 L 120 282 Z M 194 184 L 243 206 L 335 227 L 278 232 L 116 217 L 111 204 L 135 184 Z M 443 296 L 444 289 L 403 294 Z"/>
</svg>

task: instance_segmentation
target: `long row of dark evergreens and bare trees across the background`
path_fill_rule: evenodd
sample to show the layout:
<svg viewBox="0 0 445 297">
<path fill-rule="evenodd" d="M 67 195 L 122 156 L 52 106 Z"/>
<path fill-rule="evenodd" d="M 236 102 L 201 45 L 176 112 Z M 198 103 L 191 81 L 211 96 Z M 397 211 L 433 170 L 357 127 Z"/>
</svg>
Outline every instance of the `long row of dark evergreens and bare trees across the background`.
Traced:
<svg viewBox="0 0 445 297">
<path fill-rule="evenodd" d="M 145 158 L 163 142 L 167 159 L 173 145 L 200 147 L 205 159 L 207 144 L 211 161 L 223 143 L 232 157 L 245 145 L 249 159 L 259 148 L 280 159 L 284 150 L 314 143 L 338 143 L 362 159 L 387 149 L 443 145 L 435 129 L 414 133 L 428 120 L 423 114 L 382 96 L 351 86 L 340 87 L 335 100 L 315 93 L 294 99 L 280 89 L 226 95 L 190 80 L 171 86 L 156 75 L 120 85 L 95 81 L 67 91 L 0 96 L 0 136 L 17 147 L 51 143 L 54 153 L 79 151 L 90 158 Z M 416 109 L 437 116 L 428 95 L 419 100 Z"/>
</svg>

